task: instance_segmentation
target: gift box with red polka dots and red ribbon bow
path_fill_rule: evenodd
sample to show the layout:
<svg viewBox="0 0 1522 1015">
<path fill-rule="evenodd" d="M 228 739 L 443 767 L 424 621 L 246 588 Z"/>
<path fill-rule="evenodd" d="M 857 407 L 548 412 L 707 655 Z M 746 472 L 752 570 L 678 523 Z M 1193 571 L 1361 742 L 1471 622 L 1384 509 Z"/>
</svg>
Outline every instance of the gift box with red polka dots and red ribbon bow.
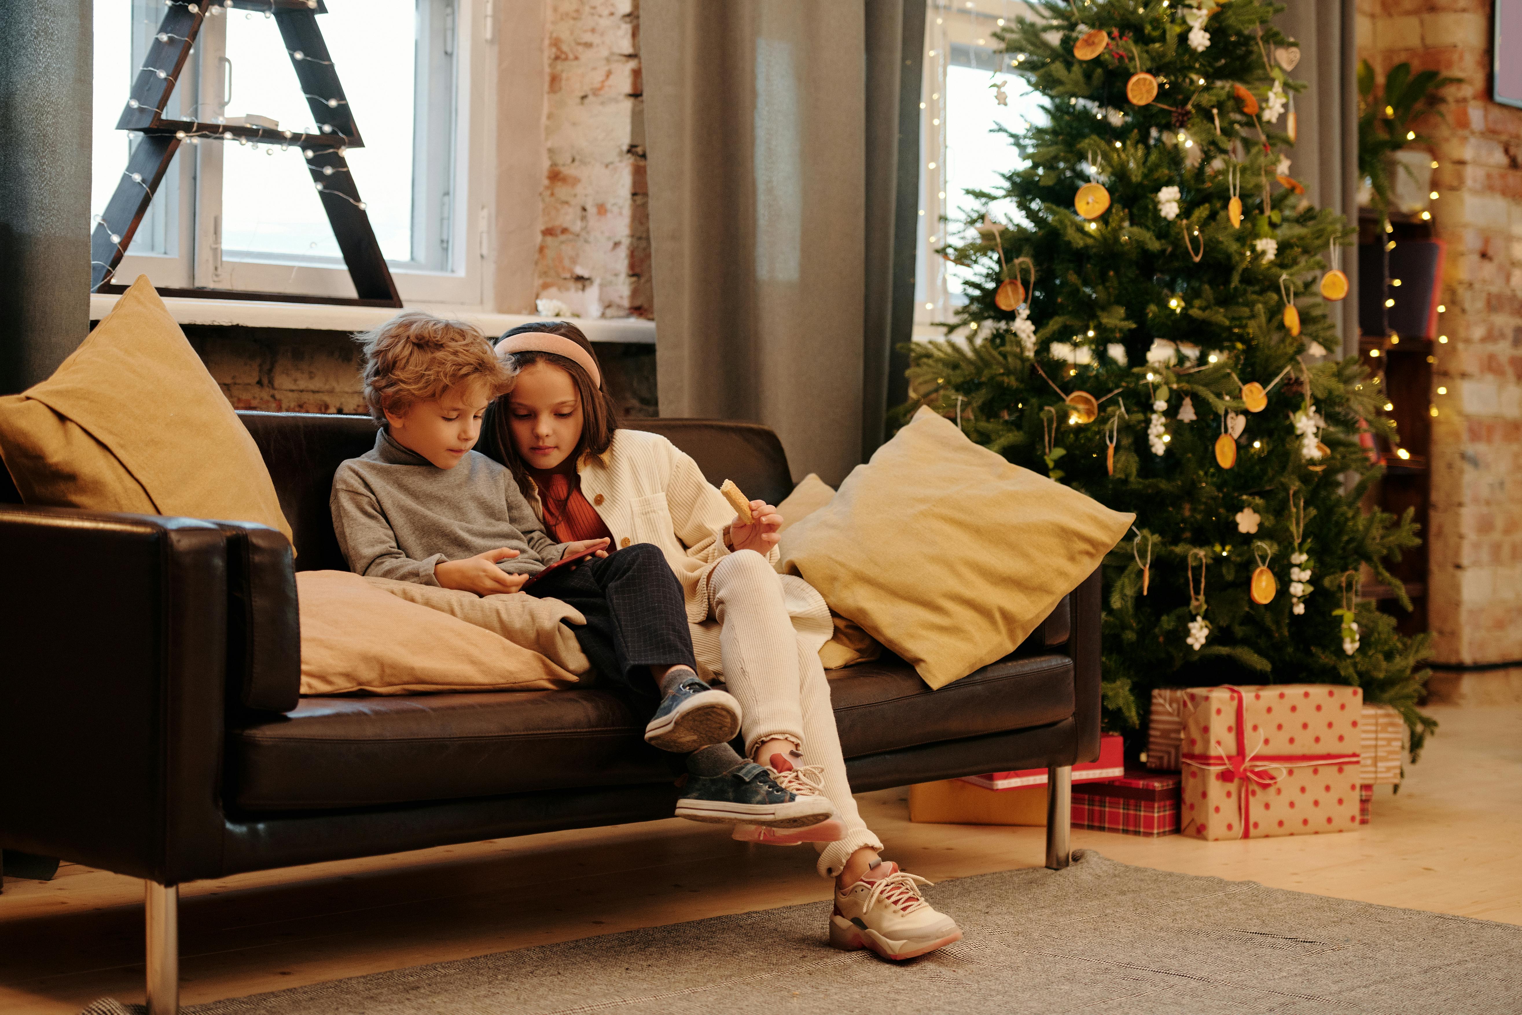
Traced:
<svg viewBox="0 0 1522 1015">
<path fill-rule="evenodd" d="M 1189 688 L 1180 831 L 1207 840 L 1356 831 L 1362 717 L 1359 688 Z"/>
</svg>

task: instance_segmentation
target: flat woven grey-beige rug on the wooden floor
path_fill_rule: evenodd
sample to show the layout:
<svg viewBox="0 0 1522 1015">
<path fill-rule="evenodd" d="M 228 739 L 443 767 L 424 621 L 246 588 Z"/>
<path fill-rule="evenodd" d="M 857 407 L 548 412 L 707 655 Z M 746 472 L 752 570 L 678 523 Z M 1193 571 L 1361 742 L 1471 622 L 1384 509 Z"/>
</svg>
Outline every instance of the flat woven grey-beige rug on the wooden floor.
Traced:
<svg viewBox="0 0 1522 1015">
<path fill-rule="evenodd" d="M 869 1012 L 1522 1010 L 1522 927 L 1131 867 L 930 889 L 966 931 L 906 963 L 825 943 L 828 902 L 587 937 L 274 994 L 189 1015 L 851 1015 Z M 142 1012 L 111 1000 L 85 1015 Z"/>
</svg>

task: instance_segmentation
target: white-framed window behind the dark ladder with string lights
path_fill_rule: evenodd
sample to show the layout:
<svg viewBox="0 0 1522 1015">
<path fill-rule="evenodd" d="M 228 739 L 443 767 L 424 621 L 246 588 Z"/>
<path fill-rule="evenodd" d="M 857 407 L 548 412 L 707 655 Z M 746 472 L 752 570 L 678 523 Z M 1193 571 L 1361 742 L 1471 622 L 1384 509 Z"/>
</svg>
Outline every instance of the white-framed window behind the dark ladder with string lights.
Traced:
<svg viewBox="0 0 1522 1015">
<path fill-rule="evenodd" d="M 99 215 L 129 146 L 116 129 L 166 0 L 94 8 L 94 181 Z M 470 0 L 326 0 L 318 24 L 364 138 L 347 161 L 403 298 L 479 306 L 486 257 L 484 102 L 470 67 Z M 212 8 L 166 116 L 257 116 L 315 132 L 274 18 Z M 472 123 L 472 116 L 476 123 Z M 472 129 L 472 128 L 476 129 Z M 472 201 L 470 195 L 478 196 Z M 472 210 L 475 213 L 472 213 Z M 119 282 L 160 288 L 352 297 L 353 286 L 298 148 L 199 138 L 180 146 L 132 237 Z"/>
</svg>

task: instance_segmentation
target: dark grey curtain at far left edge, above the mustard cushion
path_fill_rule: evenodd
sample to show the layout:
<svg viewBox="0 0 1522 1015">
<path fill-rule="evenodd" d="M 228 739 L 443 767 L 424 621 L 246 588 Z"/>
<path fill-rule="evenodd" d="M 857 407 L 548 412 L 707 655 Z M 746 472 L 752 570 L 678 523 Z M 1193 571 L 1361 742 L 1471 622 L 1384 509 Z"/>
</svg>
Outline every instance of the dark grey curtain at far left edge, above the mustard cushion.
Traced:
<svg viewBox="0 0 1522 1015">
<path fill-rule="evenodd" d="M 0 3 L 0 394 L 90 329 L 91 0 Z"/>
</svg>

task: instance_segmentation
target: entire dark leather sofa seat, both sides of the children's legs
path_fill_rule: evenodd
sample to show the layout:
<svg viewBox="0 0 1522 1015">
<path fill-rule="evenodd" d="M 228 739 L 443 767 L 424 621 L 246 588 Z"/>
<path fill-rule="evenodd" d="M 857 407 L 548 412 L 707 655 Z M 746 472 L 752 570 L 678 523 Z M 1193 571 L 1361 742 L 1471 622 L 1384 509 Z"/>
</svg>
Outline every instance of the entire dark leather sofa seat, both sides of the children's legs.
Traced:
<svg viewBox="0 0 1522 1015">
<path fill-rule="evenodd" d="M 1073 714 L 1061 654 L 1001 659 L 939 691 L 893 656 L 828 676 L 846 758 Z M 595 688 L 306 697 L 234 730 L 228 767 L 237 808 L 260 813 L 670 782 L 682 759 L 645 744 L 644 726 Z"/>
</svg>

